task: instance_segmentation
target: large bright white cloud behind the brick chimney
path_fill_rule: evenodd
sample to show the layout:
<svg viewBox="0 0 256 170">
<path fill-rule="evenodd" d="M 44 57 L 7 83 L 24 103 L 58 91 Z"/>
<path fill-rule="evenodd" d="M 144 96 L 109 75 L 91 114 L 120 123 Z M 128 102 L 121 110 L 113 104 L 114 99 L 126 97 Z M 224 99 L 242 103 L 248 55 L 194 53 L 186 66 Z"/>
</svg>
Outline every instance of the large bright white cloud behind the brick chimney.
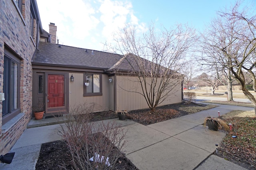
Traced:
<svg viewBox="0 0 256 170">
<path fill-rule="evenodd" d="M 60 44 L 102 50 L 103 43 L 112 41 L 113 33 L 126 23 L 143 30 L 133 14 L 132 3 L 120 0 L 37 0 L 43 29 L 49 23 L 57 26 Z"/>
</svg>

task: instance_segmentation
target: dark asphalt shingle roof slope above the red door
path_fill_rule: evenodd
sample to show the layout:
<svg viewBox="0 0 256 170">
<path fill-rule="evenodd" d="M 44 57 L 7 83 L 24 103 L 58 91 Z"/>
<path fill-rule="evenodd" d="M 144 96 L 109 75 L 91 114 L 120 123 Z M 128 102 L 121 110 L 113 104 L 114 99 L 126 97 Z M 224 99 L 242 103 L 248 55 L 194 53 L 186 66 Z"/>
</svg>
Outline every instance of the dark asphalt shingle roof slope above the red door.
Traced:
<svg viewBox="0 0 256 170">
<path fill-rule="evenodd" d="M 106 70 L 114 66 L 123 57 L 113 53 L 45 42 L 40 42 L 38 49 L 34 53 L 32 64 L 56 64 Z"/>
</svg>

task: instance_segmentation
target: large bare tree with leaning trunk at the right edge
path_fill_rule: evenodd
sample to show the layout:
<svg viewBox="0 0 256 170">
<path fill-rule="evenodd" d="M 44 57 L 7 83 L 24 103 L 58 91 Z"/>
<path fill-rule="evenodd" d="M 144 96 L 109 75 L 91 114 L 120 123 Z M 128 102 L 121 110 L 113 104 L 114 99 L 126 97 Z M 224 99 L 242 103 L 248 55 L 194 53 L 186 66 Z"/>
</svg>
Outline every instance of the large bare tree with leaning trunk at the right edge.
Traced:
<svg viewBox="0 0 256 170">
<path fill-rule="evenodd" d="M 207 43 L 204 52 L 208 51 L 208 62 L 222 70 L 228 70 L 229 76 L 229 72 L 232 73 L 240 83 L 242 92 L 254 104 L 256 113 L 256 99 L 245 86 L 245 74 L 249 73 L 256 92 L 253 72 L 256 64 L 256 16 L 250 15 L 248 11 L 241 9 L 237 2 L 230 10 L 218 12 L 218 18 L 210 25 L 210 31 L 205 33 L 204 41 Z"/>
</svg>

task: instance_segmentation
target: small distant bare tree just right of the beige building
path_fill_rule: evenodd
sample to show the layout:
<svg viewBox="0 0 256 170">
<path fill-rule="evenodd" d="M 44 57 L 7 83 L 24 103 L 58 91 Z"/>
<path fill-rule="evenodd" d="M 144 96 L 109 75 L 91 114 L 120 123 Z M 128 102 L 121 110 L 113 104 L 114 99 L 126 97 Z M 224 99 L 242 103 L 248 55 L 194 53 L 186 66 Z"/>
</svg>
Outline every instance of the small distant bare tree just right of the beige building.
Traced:
<svg viewBox="0 0 256 170">
<path fill-rule="evenodd" d="M 218 76 L 215 73 L 202 73 L 200 76 L 198 76 L 198 79 L 206 82 L 207 84 L 210 84 L 211 86 L 211 91 L 212 91 L 212 95 L 214 95 L 215 90 L 218 88 L 219 84 L 220 84 L 220 80 L 218 79 Z"/>
</svg>

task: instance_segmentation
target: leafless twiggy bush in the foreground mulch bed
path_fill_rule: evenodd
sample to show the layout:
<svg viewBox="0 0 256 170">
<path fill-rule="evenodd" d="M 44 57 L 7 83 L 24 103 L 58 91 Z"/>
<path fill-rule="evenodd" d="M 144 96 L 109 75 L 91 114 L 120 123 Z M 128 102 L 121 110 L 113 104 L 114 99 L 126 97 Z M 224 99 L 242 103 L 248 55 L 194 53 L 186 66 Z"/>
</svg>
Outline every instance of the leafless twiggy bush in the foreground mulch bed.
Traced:
<svg viewBox="0 0 256 170">
<path fill-rule="evenodd" d="M 115 122 L 90 122 L 92 109 L 88 104 L 70 109 L 66 123 L 60 124 L 60 134 L 70 150 L 74 169 L 112 169 L 122 155 L 126 132 Z"/>
</svg>

